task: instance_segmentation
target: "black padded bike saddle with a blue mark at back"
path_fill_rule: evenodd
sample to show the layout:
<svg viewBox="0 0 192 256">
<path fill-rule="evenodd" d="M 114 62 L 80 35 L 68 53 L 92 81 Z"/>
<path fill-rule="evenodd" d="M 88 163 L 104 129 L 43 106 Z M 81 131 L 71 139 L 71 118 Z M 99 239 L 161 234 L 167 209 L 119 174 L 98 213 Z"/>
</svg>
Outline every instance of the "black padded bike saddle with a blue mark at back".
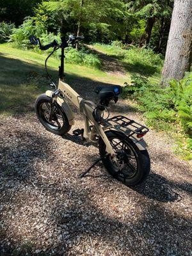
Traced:
<svg viewBox="0 0 192 256">
<path fill-rule="evenodd" d="M 101 100 L 105 100 L 120 95 L 120 93 L 122 93 L 122 88 L 119 85 L 98 86 L 95 88 L 95 92 L 99 94 Z"/>
</svg>

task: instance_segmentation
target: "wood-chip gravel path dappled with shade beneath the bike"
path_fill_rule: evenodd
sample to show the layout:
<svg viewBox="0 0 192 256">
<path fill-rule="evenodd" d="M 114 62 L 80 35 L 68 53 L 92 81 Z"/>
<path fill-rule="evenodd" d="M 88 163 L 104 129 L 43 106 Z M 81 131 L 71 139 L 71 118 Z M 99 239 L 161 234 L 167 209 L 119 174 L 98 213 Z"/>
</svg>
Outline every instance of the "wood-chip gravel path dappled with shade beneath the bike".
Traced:
<svg viewBox="0 0 192 256">
<path fill-rule="evenodd" d="M 88 99 L 97 85 L 72 84 Z M 119 113 L 143 123 L 127 101 L 111 106 Z M 0 255 L 191 255 L 191 170 L 164 134 L 148 132 L 150 176 L 127 188 L 102 164 L 77 179 L 98 148 L 72 130 L 55 136 L 33 113 L 1 118 L 0 129 Z"/>
</svg>

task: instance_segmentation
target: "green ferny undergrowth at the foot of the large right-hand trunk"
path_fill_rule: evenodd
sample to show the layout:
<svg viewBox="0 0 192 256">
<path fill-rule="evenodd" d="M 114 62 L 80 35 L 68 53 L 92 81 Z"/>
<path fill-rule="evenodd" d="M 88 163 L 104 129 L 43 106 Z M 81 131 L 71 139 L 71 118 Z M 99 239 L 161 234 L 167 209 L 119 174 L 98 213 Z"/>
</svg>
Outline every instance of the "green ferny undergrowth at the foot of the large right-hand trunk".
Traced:
<svg viewBox="0 0 192 256">
<path fill-rule="evenodd" d="M 124 97 L 129 95 L 138 101 L 138 109 L 144 112 L 150 125 L 174 123 L 182 127 L 192 148 L 192 72 L 180 81 L 170 81 L 170 86 L 161 88 L 150 84 L 145 77 L 132 76 L 131 86 L 124 88 Z M 163 125 L 161 128 L 164 128 Z"/>
</svg>

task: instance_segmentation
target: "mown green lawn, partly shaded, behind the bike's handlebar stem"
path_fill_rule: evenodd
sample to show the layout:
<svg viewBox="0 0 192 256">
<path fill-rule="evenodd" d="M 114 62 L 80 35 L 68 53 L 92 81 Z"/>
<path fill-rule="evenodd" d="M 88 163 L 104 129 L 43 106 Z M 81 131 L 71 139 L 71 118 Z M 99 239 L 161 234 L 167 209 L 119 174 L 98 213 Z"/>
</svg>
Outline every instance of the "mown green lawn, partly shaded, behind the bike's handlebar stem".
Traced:
<svg viewBox="0 0 192 256">
<path fill-rule="evenodd" d="M 0 114 L 26 112 L 33 108 L 36 97 L 47 90 L 49 81 L 45 78 L 45 54 L 0 45 Z M 55 81 L 58 79 L 60 61 L 50 58 L 49 69 Z M 90 81 L 109 84 L 124 84 L 130 77 L 118 77 L 101 70 L 67 63 L 66 80 L 83 77 Z"/>
</svg>

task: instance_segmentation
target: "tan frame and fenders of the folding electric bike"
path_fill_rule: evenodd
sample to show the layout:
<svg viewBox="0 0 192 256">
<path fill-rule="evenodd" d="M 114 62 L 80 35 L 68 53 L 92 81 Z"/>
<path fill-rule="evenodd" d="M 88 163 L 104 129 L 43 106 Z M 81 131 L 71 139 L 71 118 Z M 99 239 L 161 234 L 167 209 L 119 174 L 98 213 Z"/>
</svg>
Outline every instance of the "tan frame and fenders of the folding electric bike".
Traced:
<svg viewBox="0 0 192 256">
<path fill-rule="evenodd" d="M 93 111 L 97 107 L 92 101 L 84 100 L 69 84 L 65 83 L 62 79 L 59 80 L 58 90 L 60 90 L 60 96 L 54 97 L 54 100 L 61 106 L 65 114 L 67 115 L 68 122 L 70 125 L 74 125 L 74 114 L 68 103 L 65 101 L 65 97 L 67 97 L 76 107 L 79 109 L 80 113 L 84 116 L 84 138 L 86 140 L 95 141 L 95 135 L 99 135 L 104 143 L 106 144 L 106 152 L 113 157 L 114 161 L 116 161 L 116 154 L 111 146 L 111 143 L 106 136 L 106 131 L 116 131 L 123 132 L 125 136 L 129 136 L 129 133 L 125 132 L 122 128 L 113 127 L 113 125 L 105 125 L 104 127 L 100 125 L 93 118 Z M 52 97 L 52 91 L 48 90 L 45 94 L 48 97 Z M 90 129 L 90 125 L 92 129 Z M 143 138 L 138 139 L 136 135 L 132 135 L 129 137 L 140 150 L 145 150 L 147 148 L 147 143 L 143 140 Z"/>
</svg>

